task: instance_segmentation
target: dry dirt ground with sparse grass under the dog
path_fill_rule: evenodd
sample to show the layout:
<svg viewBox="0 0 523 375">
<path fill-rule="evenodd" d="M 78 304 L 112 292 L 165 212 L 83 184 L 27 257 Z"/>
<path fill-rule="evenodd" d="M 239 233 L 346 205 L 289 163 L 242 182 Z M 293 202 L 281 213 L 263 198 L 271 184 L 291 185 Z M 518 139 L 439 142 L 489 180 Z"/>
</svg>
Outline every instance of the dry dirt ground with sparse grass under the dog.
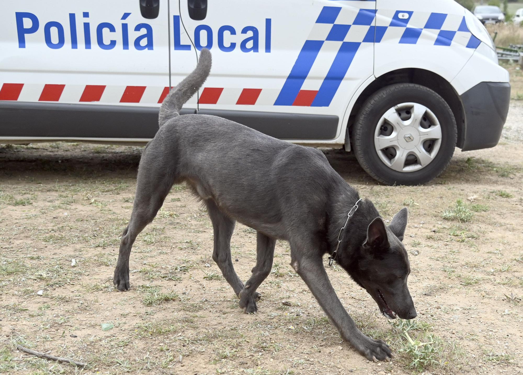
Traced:
<svg viewBox="0 0 523 375">
<path fill-rule="evenodd" d="M 141 149 L 0 146 L 0 373 L 523 373 L 521 115 L 523 102 L 513 101 L 497 147 L 456 150 L 423 187 L 378 185 L 353 156 L 325 151 L 384 219 L 410 212 L 404 242 L 417 319 L 386 320 L 343 270 L 327 270 L 363 332 L 394 349 L 390 363 L 342 342 L 290 267 L 287 243 L 278 242 L 259 288 L 258 314 L 244 314 L 211 259 L 206 212 L 185 186 L 138 237 L 131 290 L 115 291 Z M 253 230 L 236 226 L 243 280 L 255 243 Z M 31 357 L 17 344 L 88 365 Z"/>
</svg>

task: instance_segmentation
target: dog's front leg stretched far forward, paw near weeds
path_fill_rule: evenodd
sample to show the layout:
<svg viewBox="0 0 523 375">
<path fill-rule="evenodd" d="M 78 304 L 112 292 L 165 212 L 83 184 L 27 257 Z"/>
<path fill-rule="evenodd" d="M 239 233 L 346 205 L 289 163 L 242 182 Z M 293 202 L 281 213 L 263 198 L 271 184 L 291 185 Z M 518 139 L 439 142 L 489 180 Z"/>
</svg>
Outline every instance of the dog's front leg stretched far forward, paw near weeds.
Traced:
<svg viewBox="0 0 523 375">
<path fill-rule="evenodd" d="M 363 335 L 336 296 L 323 267 L 322 257 L 296 254 L 291 247 L 291 265 L 307 284 L 314 297 L 334 323 L 342 338 L 368 360 L 390 360 L 392 352 L 382 340 Z"/>
</svg>

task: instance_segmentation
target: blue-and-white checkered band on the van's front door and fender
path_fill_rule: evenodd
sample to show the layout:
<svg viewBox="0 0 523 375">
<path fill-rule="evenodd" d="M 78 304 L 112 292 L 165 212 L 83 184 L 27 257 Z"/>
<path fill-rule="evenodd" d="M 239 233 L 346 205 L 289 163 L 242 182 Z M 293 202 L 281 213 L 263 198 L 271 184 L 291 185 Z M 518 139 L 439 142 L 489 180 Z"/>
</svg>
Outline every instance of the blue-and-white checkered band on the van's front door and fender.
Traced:
<svg viewBox="0 0 523 375">
<path fill-rule="evenodd" d="M 293 105 L 327 41 L 339 42 L 340 46 L 311 107 L 328 107 L 331 104 L 362 43 L 450 46 L 454 42 L 471 49 L 481 43 L 470 32 L 464 17 L 408 10 L 397 10 L 393 15 L 381 14 L 376 9 L 359 9 L 356 13 L 354 8 L 324 6 L 280 90 L 275 106 Z"/>
</svg>

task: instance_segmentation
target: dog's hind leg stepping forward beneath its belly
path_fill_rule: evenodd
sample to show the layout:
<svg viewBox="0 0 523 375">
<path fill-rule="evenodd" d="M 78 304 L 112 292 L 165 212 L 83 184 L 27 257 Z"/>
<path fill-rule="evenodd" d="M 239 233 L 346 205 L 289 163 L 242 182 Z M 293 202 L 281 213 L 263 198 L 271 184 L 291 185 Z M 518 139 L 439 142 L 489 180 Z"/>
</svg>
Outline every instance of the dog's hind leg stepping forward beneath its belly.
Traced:
<svg viewBox="0 0 523 375">
<path fill-rule="evenodd" d="M 243 282 L 236 275 L 231 259 L 231 236 L 234 231 L 235 221 L 223 213 L 213 200 L 206 200 L 206 204 L 214 229 L 212 259 L 218 264 L 223 277 L 232 287 L 236 296 L 238 296 L 243 289 Z"/>
</svg>

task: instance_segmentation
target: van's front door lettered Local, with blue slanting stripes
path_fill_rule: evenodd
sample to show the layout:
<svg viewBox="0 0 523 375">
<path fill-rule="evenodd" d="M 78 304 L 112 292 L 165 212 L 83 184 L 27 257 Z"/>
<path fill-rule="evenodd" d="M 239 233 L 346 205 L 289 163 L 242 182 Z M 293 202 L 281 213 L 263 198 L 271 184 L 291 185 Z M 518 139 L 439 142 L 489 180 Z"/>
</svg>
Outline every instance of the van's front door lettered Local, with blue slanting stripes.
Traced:
<svg viewBox="0 0 523 375">
<path fill-rule="evenodd" d="M 183 48 L 213 57 L 198 113 L 280 139 L 343 143 L 349 101 L 373 74 L 375 5 L 182 0 Z"/>
</svg>

